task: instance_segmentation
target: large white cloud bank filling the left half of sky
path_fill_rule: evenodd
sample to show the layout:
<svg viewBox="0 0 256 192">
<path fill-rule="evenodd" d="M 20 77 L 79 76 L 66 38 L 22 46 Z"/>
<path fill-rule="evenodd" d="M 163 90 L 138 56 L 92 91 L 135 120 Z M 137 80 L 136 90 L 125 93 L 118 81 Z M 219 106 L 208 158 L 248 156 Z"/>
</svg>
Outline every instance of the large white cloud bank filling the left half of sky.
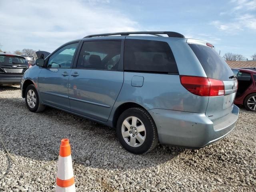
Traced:
<svg viewBox="0 0 256 192">
<path fill-rule="evenodd" d="M 0 43 L 3 50 L 33 48 L 53 51 L 88 34 L 140 29 L 110 0 L 44 0 L 0 2 Z"/>
</svg>

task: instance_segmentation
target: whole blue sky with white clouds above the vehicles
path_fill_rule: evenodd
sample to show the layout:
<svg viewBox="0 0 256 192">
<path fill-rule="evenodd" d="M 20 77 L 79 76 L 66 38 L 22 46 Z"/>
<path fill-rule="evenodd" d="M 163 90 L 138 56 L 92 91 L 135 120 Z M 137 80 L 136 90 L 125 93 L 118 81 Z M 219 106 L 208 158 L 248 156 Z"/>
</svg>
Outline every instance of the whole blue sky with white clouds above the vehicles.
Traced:
<svg viewBox="0 0 256 192">
<path fill-rule="evenodd" d="M 1 49 L 52 52 L 88 34 L 176 31 L 221 55 L 256 53 L 256 0 L 0 0 Z"/>
</svg>

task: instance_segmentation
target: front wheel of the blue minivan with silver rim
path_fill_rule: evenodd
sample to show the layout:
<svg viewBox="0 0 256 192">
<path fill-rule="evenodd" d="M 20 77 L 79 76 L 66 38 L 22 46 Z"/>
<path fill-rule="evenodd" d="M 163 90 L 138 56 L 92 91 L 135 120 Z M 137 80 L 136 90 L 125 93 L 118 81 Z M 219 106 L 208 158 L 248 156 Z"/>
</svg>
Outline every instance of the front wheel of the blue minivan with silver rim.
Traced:
<svg viewBox="0 0 256 192">
<path fill-rule="evenodd" d="M 38 93 L 34 85 L 29 85 L 26 88 L 25 101 L 28 109 L 32 112 L 38 113 L 45 109 L 45 106 L 40 104 Z"/>
</svg>

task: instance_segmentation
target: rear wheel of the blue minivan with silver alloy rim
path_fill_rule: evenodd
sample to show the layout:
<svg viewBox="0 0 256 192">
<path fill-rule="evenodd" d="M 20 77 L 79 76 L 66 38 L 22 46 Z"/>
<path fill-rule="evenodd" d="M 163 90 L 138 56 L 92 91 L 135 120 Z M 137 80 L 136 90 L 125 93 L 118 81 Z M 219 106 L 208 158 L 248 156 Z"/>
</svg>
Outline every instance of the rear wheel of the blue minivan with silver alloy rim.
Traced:
<svg viewBox="0 0 256 192">
<path fill-rule="evenodd" d="M 134 154 L 150 152 L 158 144 L 156 125 L 142 108 L 125 110 L 118 118 L 116 133 L 123 148 Z"/>
</svg>

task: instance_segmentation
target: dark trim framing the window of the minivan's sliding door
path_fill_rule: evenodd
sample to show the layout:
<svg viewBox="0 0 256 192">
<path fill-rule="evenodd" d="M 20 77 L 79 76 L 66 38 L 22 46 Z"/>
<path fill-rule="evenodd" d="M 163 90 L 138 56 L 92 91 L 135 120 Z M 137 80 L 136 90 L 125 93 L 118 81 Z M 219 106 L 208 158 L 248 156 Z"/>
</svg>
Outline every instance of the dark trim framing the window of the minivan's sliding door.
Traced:
<svg viewBox="0 0 256 192">
<path fill-rule="evenodd" d="M 78 57 L 80 54 L 80 51 L 82 50 L 82 46 L 85 42 L 91 42 L 91 41 L 121 41 L 121 49 L 120 49 L 120 63 L 118 66 L 118 70 L 109 70 L 109 69 L 92 69 L 92 68 L 77 68 L 77 62 L 78 62 Z M 88 40 L 83 40 L 80 43 L 79 46 L 79 53 L 76 56 L 76 60 L 74 60 L 74 69 L 83 69 L 83 70 L 101 70 L 101 71 L 124 71 L 124 39 L 88 39 Z"/>
</svg>

